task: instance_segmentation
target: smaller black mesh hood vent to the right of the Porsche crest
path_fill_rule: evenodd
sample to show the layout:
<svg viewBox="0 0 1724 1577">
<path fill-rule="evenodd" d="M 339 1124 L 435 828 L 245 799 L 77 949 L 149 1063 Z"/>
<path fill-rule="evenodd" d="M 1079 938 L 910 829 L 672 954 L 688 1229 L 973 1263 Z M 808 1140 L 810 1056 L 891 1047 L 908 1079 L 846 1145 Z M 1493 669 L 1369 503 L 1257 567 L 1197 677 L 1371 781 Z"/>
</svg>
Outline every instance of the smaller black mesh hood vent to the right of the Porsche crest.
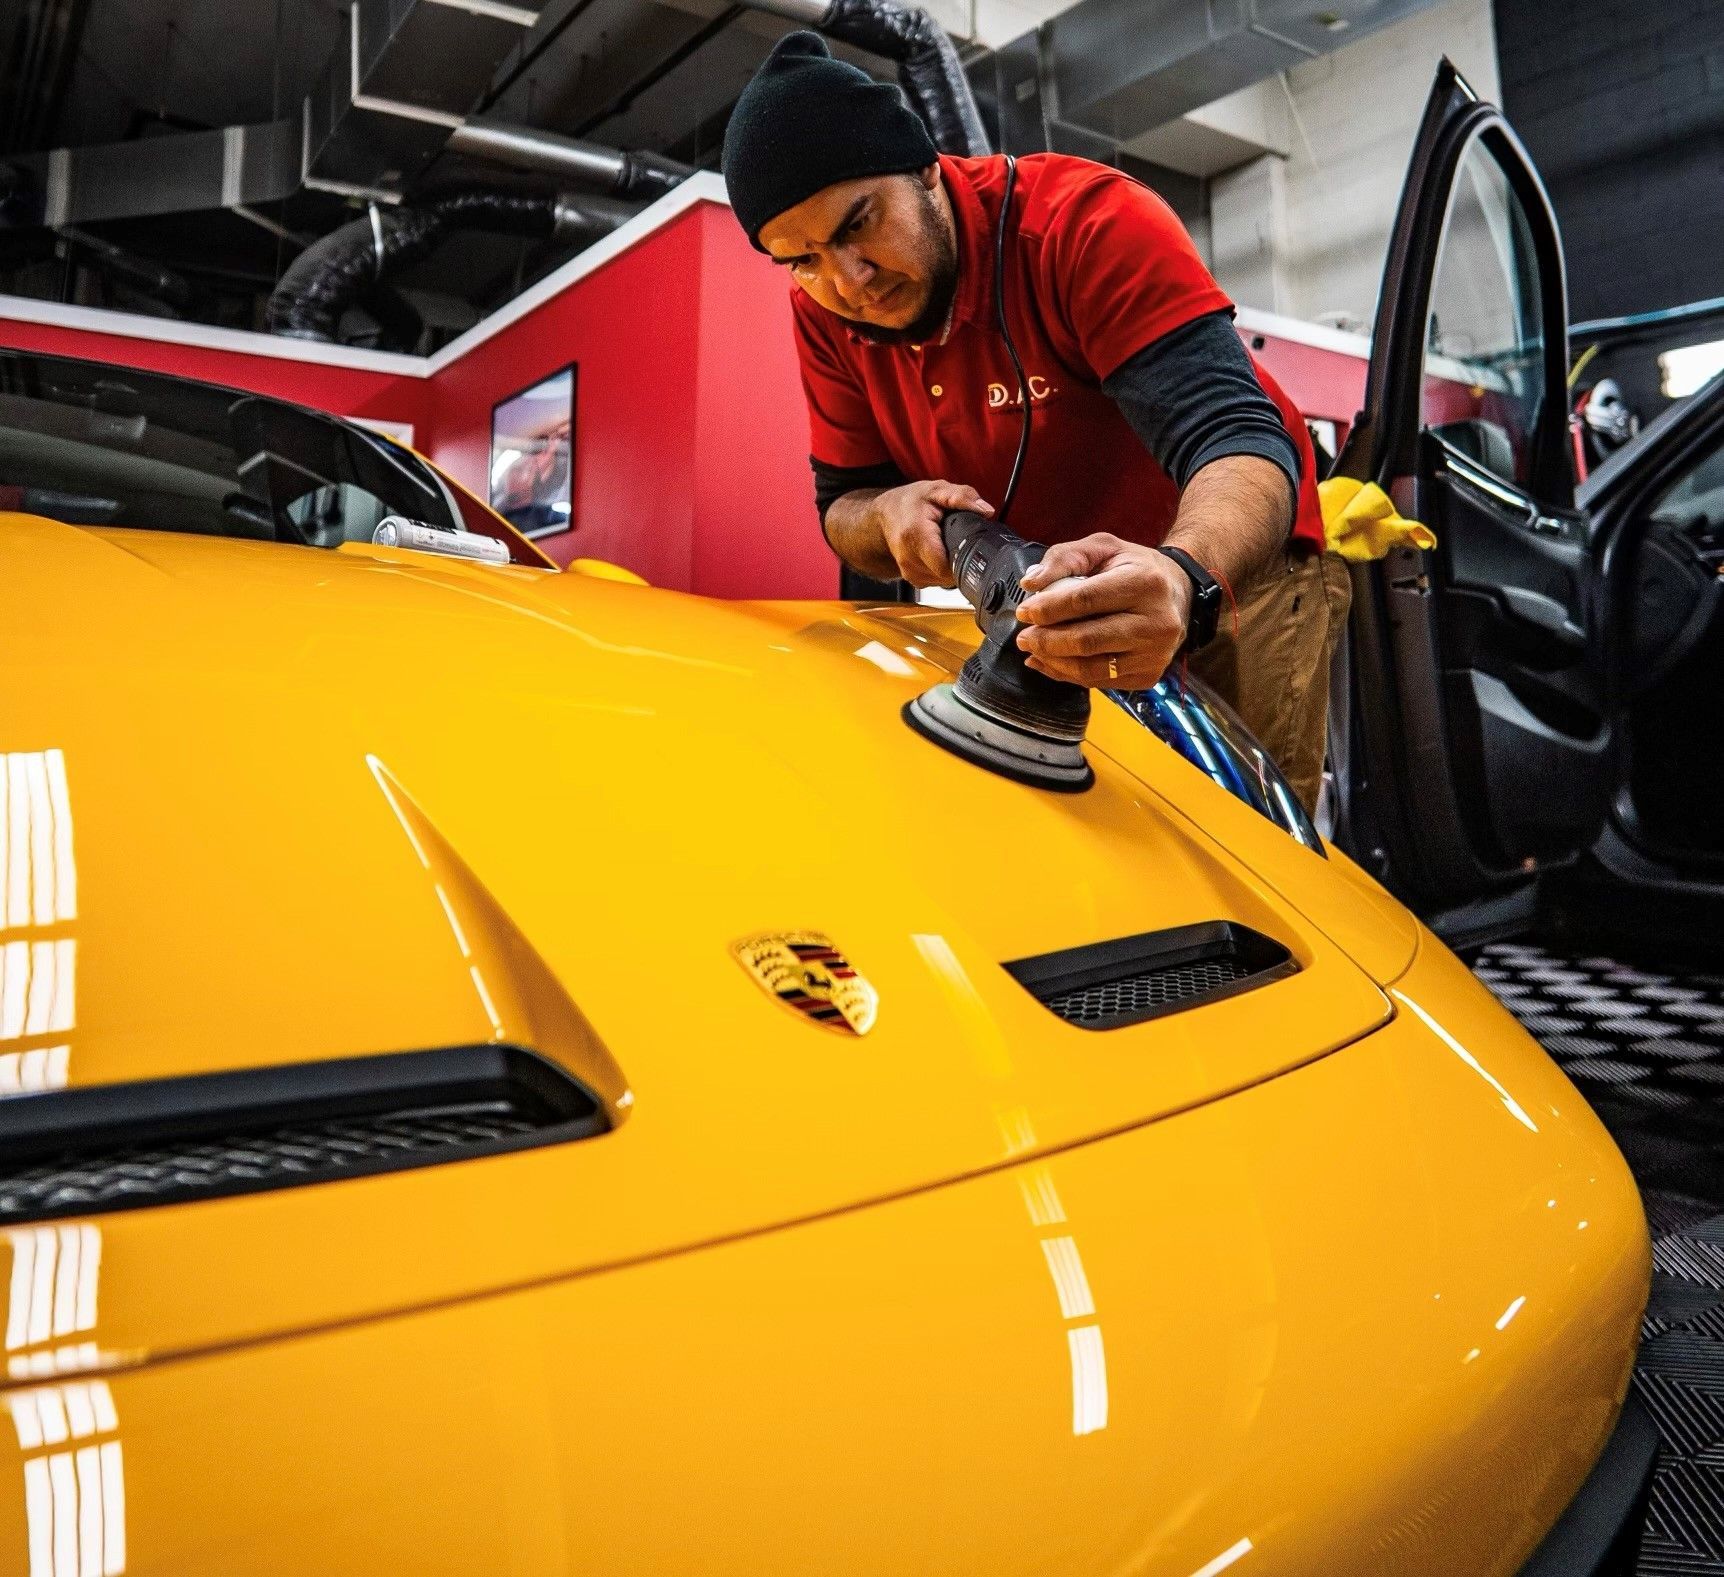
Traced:
<svg viewBox="0 0 1724 1577">
<path fill-rule="evenodd" d="M 1122 1029 L 1267 986 L 1298 965 L 1260 931 L 1210 920 L 1019 958 L 1005 969 L 1067 1024 Z"/>
</svg>

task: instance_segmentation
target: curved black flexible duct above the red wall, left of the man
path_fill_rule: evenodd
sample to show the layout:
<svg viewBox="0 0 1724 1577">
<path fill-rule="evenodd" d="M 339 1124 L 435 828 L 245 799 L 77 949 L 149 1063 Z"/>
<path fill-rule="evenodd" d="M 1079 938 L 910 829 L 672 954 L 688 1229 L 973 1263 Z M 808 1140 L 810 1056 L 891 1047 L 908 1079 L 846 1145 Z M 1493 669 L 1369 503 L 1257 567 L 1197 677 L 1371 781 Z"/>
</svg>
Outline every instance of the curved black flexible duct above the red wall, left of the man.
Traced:
<svg viewBox="0 0 1724 1577">
<path fill-rule="evenodd" d="M 412 207 L 372 205 L 365 217 L 314 241 L 288 265 L 269 298 L 265 326 L 272 334 L 333 343 L 348 307 L 428 257 L 450 231 L 593 241 L 629 212 L 600 196 L 526 191 L 450 191 Z"/>
</svg>

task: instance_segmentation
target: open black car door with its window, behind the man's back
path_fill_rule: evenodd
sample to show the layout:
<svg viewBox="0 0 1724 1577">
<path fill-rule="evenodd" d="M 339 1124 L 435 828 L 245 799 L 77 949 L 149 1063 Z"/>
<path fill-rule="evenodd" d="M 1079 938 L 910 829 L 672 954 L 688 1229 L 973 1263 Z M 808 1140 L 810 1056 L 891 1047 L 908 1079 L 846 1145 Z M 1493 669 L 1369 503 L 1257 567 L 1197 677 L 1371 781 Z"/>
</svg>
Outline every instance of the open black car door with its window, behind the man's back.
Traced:
<svg viewBox="0 0 1724 1577">
<path fill-rule="evenodd" d="M 1426 913 L 1526 886 L 1607 808 L 1595 567 L 1574 510 L 1557 222 L 1508 122 L 1445 60 L 1336 476 L 1436 546 L 1353 577 L 1340 836 Z"/>
</svg>

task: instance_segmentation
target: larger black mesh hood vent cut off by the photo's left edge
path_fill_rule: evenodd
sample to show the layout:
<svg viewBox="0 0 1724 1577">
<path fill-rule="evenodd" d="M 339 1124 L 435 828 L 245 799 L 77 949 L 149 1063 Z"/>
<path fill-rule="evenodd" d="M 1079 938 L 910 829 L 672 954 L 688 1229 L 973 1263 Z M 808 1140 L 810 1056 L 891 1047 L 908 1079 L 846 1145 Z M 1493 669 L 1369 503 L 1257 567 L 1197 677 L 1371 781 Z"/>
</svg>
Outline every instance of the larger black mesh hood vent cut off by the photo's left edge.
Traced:
<svg viewBox="0 0 1724 1577">
<path fill-rule="evenodd" d="M 300 1187 L 586 1139 L 593 1094 L 517 1046 L 452 1046 L 0 1101 L 0 1224 Z"/>
</svg>

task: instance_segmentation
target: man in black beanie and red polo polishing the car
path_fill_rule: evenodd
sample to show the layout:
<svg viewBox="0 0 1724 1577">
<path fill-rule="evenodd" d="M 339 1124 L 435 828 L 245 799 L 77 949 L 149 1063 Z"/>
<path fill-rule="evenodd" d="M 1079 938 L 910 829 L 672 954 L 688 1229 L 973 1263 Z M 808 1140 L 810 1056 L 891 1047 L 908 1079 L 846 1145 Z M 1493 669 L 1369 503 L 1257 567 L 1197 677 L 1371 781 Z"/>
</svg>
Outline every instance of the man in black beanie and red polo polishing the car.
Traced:
<svg viewBox="0 0 1724 1577">
<path fill-rule="evenodd" d="M 791 33 L 736 103 L 724 178 L 796 286 L 826 539 L 950 586 L 940 517 L 995 512 L 1022 419 L 993 281 L 1005 159 L 936 153 L 895 86 Z M 1314 807 L 1348 581 L 1305 424 L 1231 302 L 1152 191 L 1040 153 L 1017 162 L 1005 309 L 1033 422 L 1009 524 L 1052 543 L 1024 581 L 1029 664 L 1141 689 L 1188 657 Z"/>
</svg>

